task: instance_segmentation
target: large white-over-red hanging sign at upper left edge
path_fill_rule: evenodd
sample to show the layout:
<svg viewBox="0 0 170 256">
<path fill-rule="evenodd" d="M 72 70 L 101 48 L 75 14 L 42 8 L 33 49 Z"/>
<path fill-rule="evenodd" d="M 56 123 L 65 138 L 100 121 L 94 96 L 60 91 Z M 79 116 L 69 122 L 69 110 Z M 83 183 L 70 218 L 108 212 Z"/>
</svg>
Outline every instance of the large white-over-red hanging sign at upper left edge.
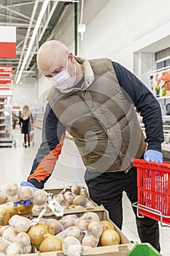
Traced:
<svg viewBox="0 0 170 256">
<path fill-rule="evenodd" d="M 15 26 L 0 26 L 0 58 L 16 58 Z"/>
</svg>

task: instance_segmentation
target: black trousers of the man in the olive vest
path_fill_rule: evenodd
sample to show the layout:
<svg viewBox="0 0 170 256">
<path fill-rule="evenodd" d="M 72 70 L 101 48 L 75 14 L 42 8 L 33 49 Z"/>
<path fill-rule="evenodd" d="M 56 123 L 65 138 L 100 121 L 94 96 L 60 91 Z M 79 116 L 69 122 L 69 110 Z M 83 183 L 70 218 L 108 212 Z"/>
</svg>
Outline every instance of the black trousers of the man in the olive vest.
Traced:
<svg viewBox="0 0 170 256">
<path fill-rule="evenodd" d="M 126 192 L 131 203 L 137 202 L 136 167 L 128 173 L 99 173 L 86 170 L 85 182 L 88 186 L 90 198 L 98 205 L 103 205 L 109 211 L 109 218 L 117 227 L 123 225 L 123 191 Z M 136 208 L 132 207 L 136 215 Z M 158 222 L 148 217 L 139 218 L 136 215 L 136 225 L 139 238 L 150 243 L 160 252 Z"/>
</svg>

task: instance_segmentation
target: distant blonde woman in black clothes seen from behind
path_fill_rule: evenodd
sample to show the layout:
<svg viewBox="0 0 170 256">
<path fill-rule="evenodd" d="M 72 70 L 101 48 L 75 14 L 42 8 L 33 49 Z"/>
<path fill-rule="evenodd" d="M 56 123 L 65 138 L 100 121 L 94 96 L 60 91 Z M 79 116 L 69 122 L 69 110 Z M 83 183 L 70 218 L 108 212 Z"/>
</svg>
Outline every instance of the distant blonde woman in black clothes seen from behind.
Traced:
<svg viewBox="0 0 170 256">
<path fill-rule="evenodd" d="M 31 112 L 29 110 L 28 105 L 25 105 L 23 107 L 23 111 L 20 113 L 20 121 L 19 123 L 21 124 L 21 133 L 24 135 L 24 146 L 27 148 L 27 141 L 28 141 L 28 146 L 30 146 L 30 121 L 31 121 Z"/>
</svg>

